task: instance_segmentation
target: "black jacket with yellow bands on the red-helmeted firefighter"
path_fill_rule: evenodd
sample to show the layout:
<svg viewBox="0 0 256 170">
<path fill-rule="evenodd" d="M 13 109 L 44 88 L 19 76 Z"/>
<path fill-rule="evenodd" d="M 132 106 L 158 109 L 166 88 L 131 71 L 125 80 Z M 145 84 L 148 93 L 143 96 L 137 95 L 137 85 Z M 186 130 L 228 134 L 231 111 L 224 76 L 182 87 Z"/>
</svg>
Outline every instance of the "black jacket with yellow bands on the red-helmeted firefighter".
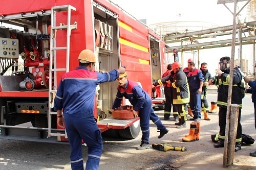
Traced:
<svg viewBox="0 0 256 170">
<path fill-rule="evenodd" d="M 173 87 L 173 104 L 189 103 L 189 89 L 186 74 L 181 70 L 177 70 L 173 76 L 170 87 Z"/>
</svg>

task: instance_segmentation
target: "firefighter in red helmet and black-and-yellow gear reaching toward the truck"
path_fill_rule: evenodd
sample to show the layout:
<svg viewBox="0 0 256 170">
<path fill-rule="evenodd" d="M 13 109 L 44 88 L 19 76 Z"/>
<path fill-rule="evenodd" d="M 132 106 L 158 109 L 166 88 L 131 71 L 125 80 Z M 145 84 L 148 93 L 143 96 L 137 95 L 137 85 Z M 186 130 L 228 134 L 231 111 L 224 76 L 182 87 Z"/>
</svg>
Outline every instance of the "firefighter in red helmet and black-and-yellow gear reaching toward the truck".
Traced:
<svg viewBox="0 0 256 170">
<path fill-rule="evenodd" d="M 170 80 L 170 87 L 173 92 L 173 108 L 178 111 L 179 122 L 175 123 L 176 128 L 185 128 L 187 121 L 187 105 L 189 103 L 189 89 L 187 84 L 187 77 L 181 69 L 181 63 L 178 61 L 173 63 L 173 71 L 169 76 L 154 82 L 153 85 L 166 83 Z"/>
</svg>

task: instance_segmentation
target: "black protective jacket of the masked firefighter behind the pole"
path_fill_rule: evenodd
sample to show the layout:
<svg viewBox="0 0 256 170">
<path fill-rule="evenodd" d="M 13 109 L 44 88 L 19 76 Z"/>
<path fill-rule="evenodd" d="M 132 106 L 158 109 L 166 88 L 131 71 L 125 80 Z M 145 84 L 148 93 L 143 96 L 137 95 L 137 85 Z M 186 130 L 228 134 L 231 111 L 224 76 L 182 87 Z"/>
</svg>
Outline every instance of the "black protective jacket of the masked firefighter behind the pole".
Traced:
<svg viewBox="0 0 256 170">
<path fill-rule="evenodd" d="M 226 68 L 221 76 L 212 78 L 214 80 L 214 84 L 219 85 L 217 101 L 217 105 L 219 107 L 227 108 L 228 85 L 230 78 L 229 72 L 230 67 Z M 238 85 L 241 84 L 242 78 L 240 71 L 234 69 L 231 104 L 238 104 L 239 107 L 242 107 L 242 92 Z"/>
</svg>

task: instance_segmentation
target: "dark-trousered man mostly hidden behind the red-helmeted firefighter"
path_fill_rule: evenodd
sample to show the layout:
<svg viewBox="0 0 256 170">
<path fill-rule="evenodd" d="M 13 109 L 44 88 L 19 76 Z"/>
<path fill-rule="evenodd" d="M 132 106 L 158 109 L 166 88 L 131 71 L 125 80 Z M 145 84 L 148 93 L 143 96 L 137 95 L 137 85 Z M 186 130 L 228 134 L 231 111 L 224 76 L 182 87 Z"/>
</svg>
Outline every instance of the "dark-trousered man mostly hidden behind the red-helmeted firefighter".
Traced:
<svg viewBox="0 0 256 170">
<path fill-rule="evenodd" d="M 172 71 L 172 64 L 167 65 L 167 71 L 164 72 L 162 75 L 162 78 L 165 76 L 170 75 L 170 72 Z M 172 89 L 170 88 L 170 85 L 168 83 L 163 84 L 164 86 L 164 95 L 165 95 L 165 104 L 164 104 L 164 120 L 168 120 L 170 117 L 170 111 L 172 110 L 172 104 L 173 104 L 173 94 Z M 174 120 L 178 121 L 179 117 L 178 114 L 175 114 L 174 112 Z"/>
</svg>

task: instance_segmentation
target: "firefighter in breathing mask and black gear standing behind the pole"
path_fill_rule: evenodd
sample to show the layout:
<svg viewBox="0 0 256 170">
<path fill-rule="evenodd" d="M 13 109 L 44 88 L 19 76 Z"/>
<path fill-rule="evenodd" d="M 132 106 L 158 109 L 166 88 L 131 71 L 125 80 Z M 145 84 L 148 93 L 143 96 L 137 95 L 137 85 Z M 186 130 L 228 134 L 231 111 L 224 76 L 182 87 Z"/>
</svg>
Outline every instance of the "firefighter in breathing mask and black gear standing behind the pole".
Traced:
<svg viewBox="0 0 256 170">
<path fill-rule="evenodd" d="M 209 84 L 219 85 L 218 87 L 218 101 L 219 106 L 219 126 L 220 126 L 220 141 L 214 145 L 215 148 L 223 148 L 225 140 L 225 128 L 226 128 L 226 112 L 227 112 L 227 100 L 228 100 L 228 87 L 229 87 L 229 72 L 230 72 L 230 58 L 222 57 L 219 62 L 220 68 L 216 69 L 216 77 L 209 80 Z M 242 125 L 241 125 L 241 110 L 242 110 L 242 92 L 240 90 L 240 84 L 243 77 L 239 70 L 233 70 L 233 87 L 232 87 L 232 100 L 231 104 L 239 105 L 239 117 L 237 127 L 237 137 L 235 152 L 241 150 L 242 141 Z M 232 113 L 230 113 L 232 116 Z"/>
</svg>

